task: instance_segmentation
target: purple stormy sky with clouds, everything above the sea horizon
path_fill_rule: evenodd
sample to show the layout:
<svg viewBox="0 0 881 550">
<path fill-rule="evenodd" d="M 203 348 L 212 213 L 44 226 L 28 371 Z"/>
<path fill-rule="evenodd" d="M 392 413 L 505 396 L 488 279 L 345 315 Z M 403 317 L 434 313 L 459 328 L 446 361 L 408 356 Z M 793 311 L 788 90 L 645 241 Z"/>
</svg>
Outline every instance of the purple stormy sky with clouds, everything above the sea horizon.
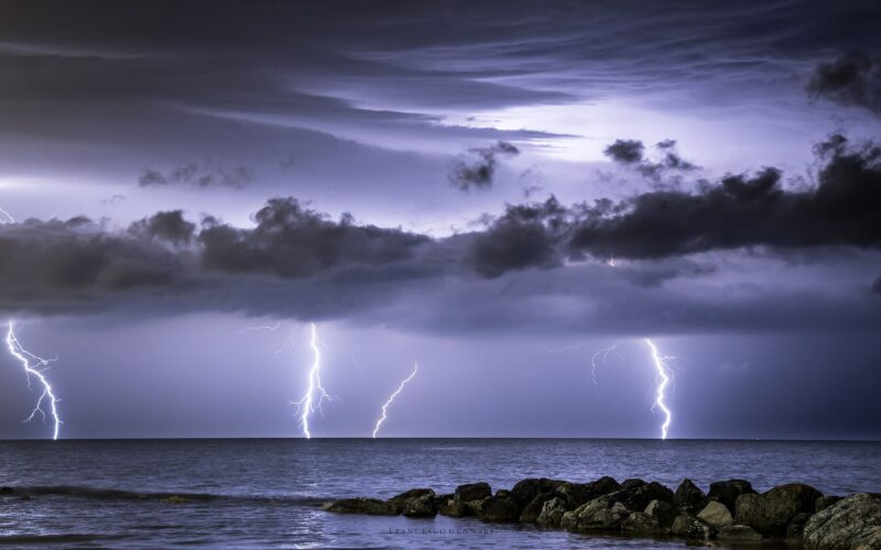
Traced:
<svg viewBox="0 0 881 550">
<path fill-rule="evenodd" d="M 0 310 L 63 437 L 297 437 L 315 322 L 315 436 L 657 437 L 651 338 L 673 438 L 881 438 L 879 16 L 3 2 Z"/>
</svg>

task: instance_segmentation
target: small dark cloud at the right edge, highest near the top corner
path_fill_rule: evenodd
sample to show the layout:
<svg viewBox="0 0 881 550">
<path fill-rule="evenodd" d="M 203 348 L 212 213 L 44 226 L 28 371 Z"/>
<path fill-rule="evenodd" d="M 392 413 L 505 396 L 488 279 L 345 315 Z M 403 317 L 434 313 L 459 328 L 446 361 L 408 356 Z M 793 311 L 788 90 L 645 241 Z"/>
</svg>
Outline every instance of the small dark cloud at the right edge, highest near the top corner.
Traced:
<svg viewBox="0 0 881 550">
<path fill-rule="evenodd" d="M 845 106 L 881 114 L 881 57 L 850 53 L 817 66 L 808 92 Z"/>
</svg>

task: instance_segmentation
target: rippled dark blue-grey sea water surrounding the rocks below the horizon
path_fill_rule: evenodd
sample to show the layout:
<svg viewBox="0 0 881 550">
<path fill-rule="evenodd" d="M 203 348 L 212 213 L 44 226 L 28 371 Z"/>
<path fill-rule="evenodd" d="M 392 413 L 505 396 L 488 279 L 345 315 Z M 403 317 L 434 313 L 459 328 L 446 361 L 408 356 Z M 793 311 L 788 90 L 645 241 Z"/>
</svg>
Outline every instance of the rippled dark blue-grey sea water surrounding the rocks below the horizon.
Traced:
<svg viewBox="0 0 881 550">
<path fill-rule="evenodd" d="M 681 541 L 323 512 L 524 477 L 800 481 L 826 494 L 881 492 L 879 442 L 649 440 L 0 441 L 0 546 L 31 548 L 683 548 Z M 28 496 L 23 496 L 28 495 Z M 172 495 L 183 502 L 168 501 Z"/>
</svg>

